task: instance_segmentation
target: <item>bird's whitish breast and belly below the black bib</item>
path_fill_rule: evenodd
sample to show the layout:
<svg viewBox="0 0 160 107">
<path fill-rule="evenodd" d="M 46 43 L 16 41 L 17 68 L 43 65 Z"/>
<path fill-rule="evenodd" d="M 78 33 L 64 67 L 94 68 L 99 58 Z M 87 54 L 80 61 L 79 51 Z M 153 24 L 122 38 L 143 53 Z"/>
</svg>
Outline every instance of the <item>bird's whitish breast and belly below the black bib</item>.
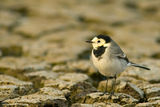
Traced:
<svg viewBox="0 0 160 107">
<path fill-rule="evenodd" d="M 127 64 L 118 58 L 110 58 L 107 55 L 107 51 L 101 56 L 101 58 L 96 58 L 92 51 L 92 61 L 94 66 L 99 70 L 99 72 L 104 76 L 114 76 L 124 71 Z"/>
</svg>

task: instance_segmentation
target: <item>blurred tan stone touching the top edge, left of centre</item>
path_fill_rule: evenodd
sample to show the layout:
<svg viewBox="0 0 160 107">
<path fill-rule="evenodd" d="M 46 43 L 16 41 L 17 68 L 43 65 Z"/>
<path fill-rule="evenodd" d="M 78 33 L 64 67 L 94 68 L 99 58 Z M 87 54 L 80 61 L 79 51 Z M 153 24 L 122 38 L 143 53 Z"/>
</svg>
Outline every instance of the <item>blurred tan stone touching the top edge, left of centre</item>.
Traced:
<svg viewBox="0 0 160 107">
<path fill-rule="evenodd" d="M 36 3 L 32 2 L 32 4 L 37 4 L 37 6 L 28 5 L 27 9 L 29 10 L 29 15 L 34 15 L 36 17 L 60 17 L 60 18 L 69 18 L 70 15 L 67 16 L 67 13 L 64 8 L 61 8 L 59 3 L 47 0 L 44 3 Z M 69 20 L 69 19 L 68 19 Z"/>
</svg>

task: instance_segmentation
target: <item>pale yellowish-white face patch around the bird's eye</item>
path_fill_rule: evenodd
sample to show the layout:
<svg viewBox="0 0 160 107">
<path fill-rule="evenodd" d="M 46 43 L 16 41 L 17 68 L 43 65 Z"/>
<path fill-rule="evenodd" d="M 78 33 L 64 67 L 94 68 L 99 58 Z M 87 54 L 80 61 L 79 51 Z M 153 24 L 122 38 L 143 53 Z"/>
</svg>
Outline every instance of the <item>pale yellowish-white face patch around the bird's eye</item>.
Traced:
<svg viewBox="0 0 160 107">
<path fill-rule="evenodd" d="M 106 43 L 104 39 L 98 39 L 97 37 L 94 37 L 92 39 L 92 45 L 93 45 L 93 48 L 94 49 L 97 49 L 98 47 L 108 47 L 110 44 L 109 43 Z"/>
</svg>

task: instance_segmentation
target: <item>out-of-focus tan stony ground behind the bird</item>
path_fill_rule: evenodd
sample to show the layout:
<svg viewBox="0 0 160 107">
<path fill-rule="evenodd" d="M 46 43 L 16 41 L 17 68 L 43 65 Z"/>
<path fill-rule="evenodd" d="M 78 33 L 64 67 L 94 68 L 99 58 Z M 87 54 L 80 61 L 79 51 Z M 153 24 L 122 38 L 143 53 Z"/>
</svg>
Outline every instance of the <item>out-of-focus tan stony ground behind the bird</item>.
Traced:
<svg viewBox="0 0 160 107">
<path fill-rule="evenodd" d="M 160 0 L 0 0 L 0 73 L 30 80 L 25 73 L 37 70 L 86 71 L 85 41 L 97 34 L 132 61 L 159 60 Z"/>
</svg>

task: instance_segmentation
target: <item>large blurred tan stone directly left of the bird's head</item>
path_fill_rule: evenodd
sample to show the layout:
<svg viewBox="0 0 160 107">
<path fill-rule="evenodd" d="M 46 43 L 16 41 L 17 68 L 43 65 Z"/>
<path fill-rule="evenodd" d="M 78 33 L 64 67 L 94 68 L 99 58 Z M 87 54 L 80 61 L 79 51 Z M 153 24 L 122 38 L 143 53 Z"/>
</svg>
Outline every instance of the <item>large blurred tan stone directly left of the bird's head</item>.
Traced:
<svg viewBox="0 0 160 107">
<path fill-rule="evenodd" d="M 66 38 L 66 34 L 70 35 L 70 37 Z M 39 57 L 46 54 L 44 60 L 51 64 L 63 64 L 76 61 L 75 59 L 78 59 L 79 55 L 88 49 L 85 41 L 86 36 L 90 34 L 89 31 L 85 30 L 67 30 L 47 34 L 30 50 L 30 55 Z M 79 41 L 75 42 L 75 40 Z M 44 43 L 44 41 L 46 43 Z"/>
</svg>

